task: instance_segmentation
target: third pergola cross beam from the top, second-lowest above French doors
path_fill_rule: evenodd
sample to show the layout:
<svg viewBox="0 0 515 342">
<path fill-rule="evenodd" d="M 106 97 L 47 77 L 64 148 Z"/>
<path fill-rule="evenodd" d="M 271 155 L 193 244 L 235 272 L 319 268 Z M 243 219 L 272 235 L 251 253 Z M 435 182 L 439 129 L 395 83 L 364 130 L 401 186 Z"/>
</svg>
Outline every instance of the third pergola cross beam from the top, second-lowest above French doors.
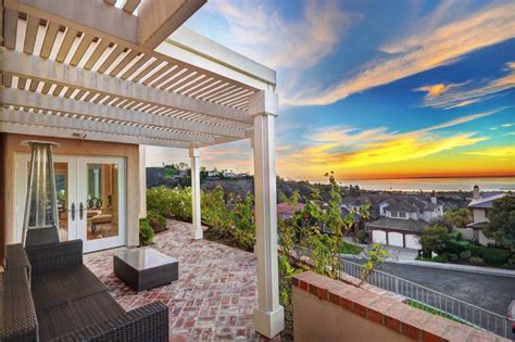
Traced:
<svg viewBox="0 0 515 342">
<path fill-rule="evenodd" d="M 16 111 L 12 109 L 2 109 L 0 119 L 9 123 L 20 123 L 26 125 L 61 127 L 68 129 L 78 129 L 85 132 L 97 131 L 103 134 L 124 135 L 130 137 L 143 137 L 152 139 L 163 139 L 177 141 L 181 145 L 187 145 L 191 141 L 175 139 L 175 132 L 151 129 L 146 127 L 135 127 L 121 125 L 117 123 L 105 123 L 95 119 L 86 119 L 71 116 L 58 116 L 51 114 L 41 114 L 35 112 Z M 184 143 L 184 144 L 183 144 Z"/>
</svg>

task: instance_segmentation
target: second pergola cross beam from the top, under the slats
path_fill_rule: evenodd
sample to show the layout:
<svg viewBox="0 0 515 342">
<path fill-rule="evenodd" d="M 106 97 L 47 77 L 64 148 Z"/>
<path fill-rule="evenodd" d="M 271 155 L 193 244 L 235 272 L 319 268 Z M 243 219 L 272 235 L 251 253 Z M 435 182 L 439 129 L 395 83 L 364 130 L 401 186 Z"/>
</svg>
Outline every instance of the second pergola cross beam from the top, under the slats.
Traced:
<svg viewBox="0 0 515 342">
<path fill-rule="evenodd" d="M 209 134 L 228 137 L 231 139 L 246 138 L 244 130 L 224 126 L 211 125 L 202 122 L 191 122 L 183 118 L 162 116 L 142 111 L 128 110 L 95 102 L 77 101 L 63 97 L 53 97 L 38 92 L 3 88 L 0 101 L 7 104 L 29 106 L 54 112 L 74 113 L 80 115 L 95 115 L 110 119 L 126 121 L 143 125 L 162 126 L 189 130 L 192 132 Z M 209 141 L 203 141 L 209 142 Z M 217 142 L 217 139 L 215 141 Z"/>
</svg>

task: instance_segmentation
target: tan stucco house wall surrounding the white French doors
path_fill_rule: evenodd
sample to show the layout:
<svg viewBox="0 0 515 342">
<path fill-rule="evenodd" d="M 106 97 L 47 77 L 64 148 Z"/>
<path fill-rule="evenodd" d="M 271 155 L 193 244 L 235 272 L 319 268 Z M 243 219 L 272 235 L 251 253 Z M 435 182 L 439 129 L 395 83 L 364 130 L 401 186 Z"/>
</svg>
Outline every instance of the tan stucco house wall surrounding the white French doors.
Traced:
<svg viewBox="0 0 515 342">
<path fill-rule="evenodd" d="M 14 207 L 15 207 L 15 155 L 20 152 L 28 153 L 30 149 L 23 147 L 23 140 L 40 139 L 45 141 L 58 142 L 59 148 L 54 149 L 54 154 L 66 155 L 90 155 L 90 156 L 118 156 L 126 160 L 126 223 L 127 245 L 139 244 L 139 212 L 140 212 L 140 188 L 139 188 L 139 147 L 137 144 L 126 144 L 116 142 L 101 142 L 77 139 L 62 139 L 37 136 L 11 135 L 4 136 L 4 163 L 3 173 L 5 185 L 2 201 L 4 205 L 4 217 L 0 221 L 0 231 L 4 231 L 5 243 L 14 242 Z M 9 229 L 7 229 L 9 227 Z"/>
</svg>

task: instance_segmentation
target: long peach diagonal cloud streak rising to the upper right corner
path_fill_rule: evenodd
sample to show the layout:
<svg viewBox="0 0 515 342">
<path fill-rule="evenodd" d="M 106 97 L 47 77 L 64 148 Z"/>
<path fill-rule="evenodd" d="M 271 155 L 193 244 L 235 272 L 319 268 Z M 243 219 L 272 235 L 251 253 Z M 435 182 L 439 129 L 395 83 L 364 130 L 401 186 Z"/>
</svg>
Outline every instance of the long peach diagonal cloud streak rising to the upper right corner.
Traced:
<svg viewBox="0 0 515 342">
<path fill-rule="evenodd" d="M 388 55 L 369 61 L 354 77 L 346 78 L 325 91 L 287 99 L 286 102 L 294 105 L 330 104 L 350 94 L 453 63 L 472 51 L 510 39 L 515 36 L 513 3 L 480 9 L 440 27 L 420 27 L 413 29 L 416 34 L 381 47 L 380 50 Z"/>
</svg>

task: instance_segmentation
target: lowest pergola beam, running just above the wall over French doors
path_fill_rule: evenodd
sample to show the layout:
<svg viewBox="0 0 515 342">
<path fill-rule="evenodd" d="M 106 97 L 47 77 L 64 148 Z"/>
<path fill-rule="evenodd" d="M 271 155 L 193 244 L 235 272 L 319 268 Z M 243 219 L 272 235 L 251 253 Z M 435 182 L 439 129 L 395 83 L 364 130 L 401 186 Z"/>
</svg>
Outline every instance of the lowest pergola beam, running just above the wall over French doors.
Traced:
<svg viewBox="0 0 515 342">
<path fill-rule="evenodd" d="M 120 143 L 131 143 L 131 144 L 148 144 L 159 145 L 166 148 L 179 148 L 187 149 L 190 143 L 183 143 L 173 140 L 152 139 L 145 137 L 133 137 L 125 135 L 105 134 L 98 131 L 84 131 L 80 129 L 71 129 L 52 126 L 36 126 L 26 125 L 21 123 L 2 122 L 0 118 L 0 131 L 17 134 L 17 135 L 34 135 L 42 137 L 56 137 L 67 139 L 79 139 L 79 140 L 95 140 L 95 141 L 108 141 L 108 142 L 120 142 Z"/>
</svg>

